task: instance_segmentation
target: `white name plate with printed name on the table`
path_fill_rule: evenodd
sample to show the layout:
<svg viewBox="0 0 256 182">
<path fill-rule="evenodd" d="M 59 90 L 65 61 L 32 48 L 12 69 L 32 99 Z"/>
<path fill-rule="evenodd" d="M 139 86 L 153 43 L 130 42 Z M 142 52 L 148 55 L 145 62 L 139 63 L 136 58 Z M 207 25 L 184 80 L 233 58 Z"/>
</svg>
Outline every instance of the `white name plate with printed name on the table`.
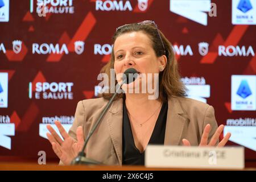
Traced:
<svg viewBox="0 0 256 182">
<path fill-rule="evenodd" d="M 148 145 L 146 167 L 243 169 L 243 147 L 185 147 Z"/>
</svg>

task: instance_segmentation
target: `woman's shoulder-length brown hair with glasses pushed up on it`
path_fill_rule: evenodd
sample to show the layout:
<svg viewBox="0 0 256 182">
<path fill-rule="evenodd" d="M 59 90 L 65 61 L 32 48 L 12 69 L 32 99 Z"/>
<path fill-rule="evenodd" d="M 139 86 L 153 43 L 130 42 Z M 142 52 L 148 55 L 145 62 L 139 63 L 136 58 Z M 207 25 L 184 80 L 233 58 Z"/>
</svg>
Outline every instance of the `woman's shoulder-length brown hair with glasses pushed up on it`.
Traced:
<svg viewBox="0 0 256 182">
<path fill-rule="evenodd" d="M 179 71 L 177 68 L 177 60 L 175 59 L 174 50 L 172 49 L 172 44 L 166 39 L 166 37 L 163 35 L 163 33 L 156 29 L 156 27 L 151 25 L 142 25 L 142 24 L 128 24 L 126 26 L 123 26 L 122 28 L 119 28 L 112 40 L 113 44 L 115 43 L 115 40 L 118 38 L 118 36 L 129 33 L 129 32 L 144 32 L 148 35 L 148 37 L 151 40 L 152 48 L 155 51 L 155 54 L 157 57 L 166 55 L 167 57 L 167 64 L 166 67 L 162 72 L 159 73 L 159 97 L 158 100 L 165 102 L 168 101 L 168 98 L 171 96 L 179 96 L 184 97 L 185 94 L 185 86 L 183 82 L 180 80 Z M 158 32 L 163 40 L 164 48 L 166 49 L 166 53 L 164 53 L 164 48 L 162 45 L 162 42 L 159 38 Z M 111 58 L 108 64 L 106 64 L 102 69 L 101 73 L 106 73 L 110 78 L 110 69 L 114 69 L 114 50 L 112 49 Z M 117 80 L 115 80 L 115 85 L 117 84 Z M 110 84 L 109 84 L 110 85 Z M 106 99 L 110 99 L 113 96 L 113 93 L 102 93 L 102 96 Z M 118 98 L 122 98 L 123 93 L 117 94 Z"/>
</svg>

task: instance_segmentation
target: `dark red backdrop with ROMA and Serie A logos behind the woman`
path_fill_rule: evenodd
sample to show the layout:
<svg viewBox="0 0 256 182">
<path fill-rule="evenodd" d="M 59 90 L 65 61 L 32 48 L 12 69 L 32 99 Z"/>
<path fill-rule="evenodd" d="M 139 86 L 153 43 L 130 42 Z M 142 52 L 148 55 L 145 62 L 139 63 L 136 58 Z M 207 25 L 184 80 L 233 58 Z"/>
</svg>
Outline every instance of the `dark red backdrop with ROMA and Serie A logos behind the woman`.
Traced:
<svg viewBox="0 0 256 182">
<path fill-rule="evenodd" d="M 101 90 L 115 28 L 142 20 L 174 45 L 188 97 L 256 160 L 255 0 L 0 0 L 1 158 L 57 161 L 46 125 L 71 127 L 77 102 Z"/>
</svg>

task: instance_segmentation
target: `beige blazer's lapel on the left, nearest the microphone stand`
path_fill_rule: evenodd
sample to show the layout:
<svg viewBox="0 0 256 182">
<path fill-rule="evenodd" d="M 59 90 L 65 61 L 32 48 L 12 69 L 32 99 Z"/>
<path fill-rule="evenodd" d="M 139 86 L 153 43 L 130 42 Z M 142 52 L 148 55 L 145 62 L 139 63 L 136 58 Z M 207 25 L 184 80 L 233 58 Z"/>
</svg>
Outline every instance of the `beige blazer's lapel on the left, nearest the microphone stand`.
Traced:
<svg viewBox="0 0 256 182">
<path fill-rule="evenodd" d="M 110 106 L 107 120 L 110 137 L 112 139 L 119 165 L 122 165 L 122 127 L 123 127 L 123 100 L 115 100 Z"/>
</svg>

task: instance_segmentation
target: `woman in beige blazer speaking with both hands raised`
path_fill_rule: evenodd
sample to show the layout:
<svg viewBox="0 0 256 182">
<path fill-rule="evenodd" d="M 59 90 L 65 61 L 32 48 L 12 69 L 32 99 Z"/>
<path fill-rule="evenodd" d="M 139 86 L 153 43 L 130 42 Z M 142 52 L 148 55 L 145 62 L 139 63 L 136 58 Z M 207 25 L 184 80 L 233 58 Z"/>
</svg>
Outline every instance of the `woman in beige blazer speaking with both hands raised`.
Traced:
<svg viewBox="0 0 256 182">
<path fill-rule="evenodd" d="M 148 144 L 226 144 L 231 134 L 218 141 L 224 126 L 217 126 L 213 107 L 185 98 L 171 43 L 153 21 L 117 28 L 111 59 L 101 72 L 111 76 L 114 70 L 119 75 L 129 68 L 134 68 L 139 76 L 134 82 L 122 85 L 122 92 L 117 94 L 86 145 L 87 158 L 109 165 L 144 165 Z M 148 79 L 155 74 L 158 77 Z M 116 77 L 115 84 L 120 82 L 122 77 Z M 155 99 L 150 98 L 148 90 L 142 92 L 143 84 L 157 90 Z M 139 92 L 133 92 L 136 89 Z M 63 139 L 47 126 L 47 137 L 60 163 L 70 164 L 82 150 L 86 136 L 113 94 L 105 92 L 101 98 L 80 101 L 69 133 L 56 121 Z"/>
</svg>

